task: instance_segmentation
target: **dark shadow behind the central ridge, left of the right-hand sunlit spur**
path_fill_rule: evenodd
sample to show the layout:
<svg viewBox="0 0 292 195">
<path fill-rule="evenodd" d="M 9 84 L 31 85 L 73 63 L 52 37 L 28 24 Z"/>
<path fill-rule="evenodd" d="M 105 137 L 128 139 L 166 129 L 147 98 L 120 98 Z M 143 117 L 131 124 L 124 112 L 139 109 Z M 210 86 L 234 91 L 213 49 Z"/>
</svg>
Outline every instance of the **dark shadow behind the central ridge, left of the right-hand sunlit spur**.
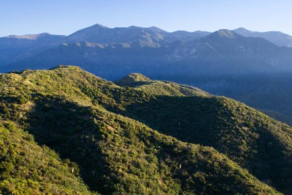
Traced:
<svg viewBox="0 0 292 195">
<path fill-rule="evenodd" d="M 218 102 L 212 98 L 158 96 L 128 105 L 123 114 L 165 135 L 210 146 L 217 138 L 217 112 L 213 112 L 217 107 Z"/>
</svg>

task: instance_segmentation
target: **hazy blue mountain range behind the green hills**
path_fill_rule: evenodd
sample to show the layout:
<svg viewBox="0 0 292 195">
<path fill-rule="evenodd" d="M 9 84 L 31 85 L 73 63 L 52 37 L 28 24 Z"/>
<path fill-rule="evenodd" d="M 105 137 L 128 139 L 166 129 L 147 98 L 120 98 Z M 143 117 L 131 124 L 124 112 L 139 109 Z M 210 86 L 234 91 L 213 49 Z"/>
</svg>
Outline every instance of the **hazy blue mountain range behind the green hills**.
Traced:
<svg viewBox="0 0 292 195">
<path fill-rule="evenodd" d="M 244 28 L 166 32 L 95 24 L 69 36 L 0 38 L 0 72 L 59 64 L 78 65 L 109 80 L 138 72 L 235 98 L 292 124 L 290 41 L 283 33 Z"/>
</svg>

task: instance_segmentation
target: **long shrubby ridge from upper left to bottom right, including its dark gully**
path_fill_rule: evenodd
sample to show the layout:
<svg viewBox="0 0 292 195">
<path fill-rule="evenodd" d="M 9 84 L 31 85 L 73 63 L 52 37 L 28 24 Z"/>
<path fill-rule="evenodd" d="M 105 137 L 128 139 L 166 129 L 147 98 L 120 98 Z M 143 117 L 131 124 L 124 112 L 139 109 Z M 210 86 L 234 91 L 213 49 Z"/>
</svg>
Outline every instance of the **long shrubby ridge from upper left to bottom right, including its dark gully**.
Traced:
<svg viewBox="0 0 292 195">
<path fill-rule="evenodd" d="M 278 194 L 213 148 L 183 143 L 105 110 L 151 98 L 142 90 L 77 67 L 4 74 L 0 82 L 1 118 L 75 161 L 86 184 L 102 194 Z M 182 94 L 198 94 L 182 88 Z M 21 111 L 28 102 L 33 109 Z"/>
</svg>

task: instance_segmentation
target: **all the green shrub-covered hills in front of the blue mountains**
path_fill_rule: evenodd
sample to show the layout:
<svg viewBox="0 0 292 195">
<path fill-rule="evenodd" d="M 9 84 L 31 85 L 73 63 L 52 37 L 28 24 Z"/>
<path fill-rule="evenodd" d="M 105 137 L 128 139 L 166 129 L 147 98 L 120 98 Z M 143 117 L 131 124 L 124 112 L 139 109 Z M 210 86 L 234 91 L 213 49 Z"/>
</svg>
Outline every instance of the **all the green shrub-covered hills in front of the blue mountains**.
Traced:
<svg viewBox="0 0 292 195">
<path fill-rule="evenodd" d="M 130 77 L 120 87 L 73 66 L 1 74 L 0 192 L 291 193 L 289 126 L 194 87 Z"/>
</svg>

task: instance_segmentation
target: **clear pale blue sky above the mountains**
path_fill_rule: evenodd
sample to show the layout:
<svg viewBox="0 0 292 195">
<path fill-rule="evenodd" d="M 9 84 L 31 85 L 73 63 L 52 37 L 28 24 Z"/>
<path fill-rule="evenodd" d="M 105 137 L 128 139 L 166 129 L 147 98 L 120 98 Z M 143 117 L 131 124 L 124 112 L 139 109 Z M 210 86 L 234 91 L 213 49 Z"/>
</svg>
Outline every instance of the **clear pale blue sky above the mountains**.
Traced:
<svg viewBox="0 0 292 195">
<path fill-rule="evenodd" d="M 96 23 L 169 32 L 244 27 L 292 35 L 292 0 L 0 0 L 0 37 L 70 35 Z"/>
</svg>

